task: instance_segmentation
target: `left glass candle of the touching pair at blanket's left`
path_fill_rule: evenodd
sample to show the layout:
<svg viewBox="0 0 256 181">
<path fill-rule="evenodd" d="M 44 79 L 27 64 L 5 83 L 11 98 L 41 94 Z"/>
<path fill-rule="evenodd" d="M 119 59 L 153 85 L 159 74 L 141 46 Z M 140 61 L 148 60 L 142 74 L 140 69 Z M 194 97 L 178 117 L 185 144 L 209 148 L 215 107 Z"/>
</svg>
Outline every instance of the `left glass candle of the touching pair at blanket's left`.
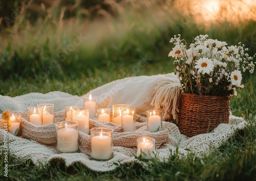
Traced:
<svg viewBox="0 0 256 181">
<path fill-rule="evenodd" d="M 42 108 L 28 107 L 27 108 L 28 121 L 36 126 L 42 125 Z"/>
</svg>

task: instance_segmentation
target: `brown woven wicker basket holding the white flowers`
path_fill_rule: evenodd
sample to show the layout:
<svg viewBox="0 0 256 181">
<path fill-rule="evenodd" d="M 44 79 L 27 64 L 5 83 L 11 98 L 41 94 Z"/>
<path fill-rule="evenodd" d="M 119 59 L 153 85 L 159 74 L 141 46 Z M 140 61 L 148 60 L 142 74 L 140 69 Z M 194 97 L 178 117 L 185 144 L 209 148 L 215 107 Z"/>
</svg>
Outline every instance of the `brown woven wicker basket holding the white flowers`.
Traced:
<svg viewBox="0 0 256 181">
<path fill-rule="evenodd" d="M 181 94 L 180 132 L 188 137 L 207 133 L 229 121 L 230 96 L 200 96 Z"/>
</svg>

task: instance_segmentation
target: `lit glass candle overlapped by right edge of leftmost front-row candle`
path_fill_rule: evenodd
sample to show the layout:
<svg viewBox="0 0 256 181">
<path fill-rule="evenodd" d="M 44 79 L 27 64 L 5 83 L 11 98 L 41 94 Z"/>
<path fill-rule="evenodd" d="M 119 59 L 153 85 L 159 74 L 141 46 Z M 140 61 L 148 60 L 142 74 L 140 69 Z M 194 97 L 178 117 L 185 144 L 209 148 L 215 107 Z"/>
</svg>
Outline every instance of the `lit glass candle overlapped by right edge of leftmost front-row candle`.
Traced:
<svg viewBox="0 0 256 181">
<path fill-rule="evenodd" d="M 89 134 L 90 110 L 85 107 L 73 107 L 71 109 L 71 120 L 78 122 L 78 129 Z"/>
</svg>

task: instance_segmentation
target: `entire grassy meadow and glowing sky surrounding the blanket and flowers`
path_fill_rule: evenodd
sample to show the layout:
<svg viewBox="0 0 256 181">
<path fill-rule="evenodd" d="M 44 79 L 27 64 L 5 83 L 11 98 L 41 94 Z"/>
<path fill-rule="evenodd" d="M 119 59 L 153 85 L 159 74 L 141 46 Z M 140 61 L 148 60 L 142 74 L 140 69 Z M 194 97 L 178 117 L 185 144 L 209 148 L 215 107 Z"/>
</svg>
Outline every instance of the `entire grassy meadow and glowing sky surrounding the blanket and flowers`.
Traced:
<svg viewBox="0 0 256 181">
<path fill-rule="evenodd" d="M 1 0 L 0 31 L 0 95 L 60 90 L 81 96 L 116 79 L 173 72 L 169 40 L 177 34 L 187 43 L 200 34 L 229 46 L 242 42 L 252 56 L 256 1 Z M 148 169 L 132 163 L 100 174 L 79 164 L 36 168 L 11 157 L 9 179 L 255 180 L 254 78 L 244 73 L 245 88 L 230 101 L 232 113 L 251 126 L 202 160 L 174 155 Z"/>
</svg>

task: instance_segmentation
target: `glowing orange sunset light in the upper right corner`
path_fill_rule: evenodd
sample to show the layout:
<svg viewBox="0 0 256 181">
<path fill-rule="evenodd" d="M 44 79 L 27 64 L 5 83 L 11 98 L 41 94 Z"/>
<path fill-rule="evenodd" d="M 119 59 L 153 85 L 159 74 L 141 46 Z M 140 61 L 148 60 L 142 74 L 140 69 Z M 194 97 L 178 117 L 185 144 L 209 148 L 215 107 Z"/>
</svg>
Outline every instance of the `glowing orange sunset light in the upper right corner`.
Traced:
<svg viewBox="0 0 256 181">
<path fill-rule="evenodd" d="M 224 21 L 237 26 L 241 21 L 256 20 L 256 1 L 253 0 L 187 0 L 175 1 L 174 6 L 205 26 Z"/>
</svg>

